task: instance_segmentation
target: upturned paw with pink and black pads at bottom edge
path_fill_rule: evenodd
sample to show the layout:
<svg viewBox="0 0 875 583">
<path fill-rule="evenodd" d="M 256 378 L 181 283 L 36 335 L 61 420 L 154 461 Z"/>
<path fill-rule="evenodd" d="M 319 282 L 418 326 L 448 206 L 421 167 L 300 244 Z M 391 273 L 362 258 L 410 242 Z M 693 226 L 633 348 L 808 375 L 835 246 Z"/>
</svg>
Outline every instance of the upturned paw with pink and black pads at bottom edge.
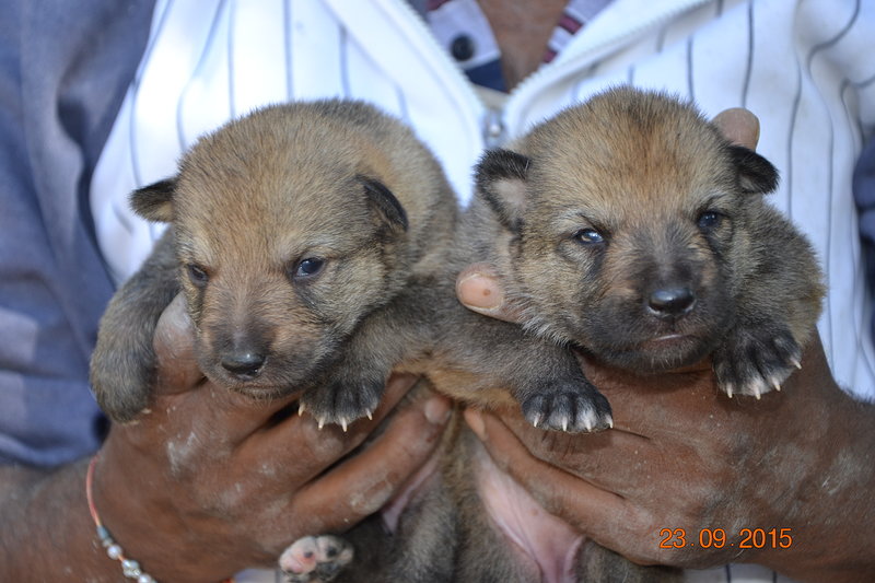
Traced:
<svg viewBox="0 0 875 583">
<path fill-rule="evenodd" d="M 280 569 L 290 583 L 327 583 L 352 560 L 352 546 L 336 536 L 305 536 L 280 556 Z"/>
</svg>

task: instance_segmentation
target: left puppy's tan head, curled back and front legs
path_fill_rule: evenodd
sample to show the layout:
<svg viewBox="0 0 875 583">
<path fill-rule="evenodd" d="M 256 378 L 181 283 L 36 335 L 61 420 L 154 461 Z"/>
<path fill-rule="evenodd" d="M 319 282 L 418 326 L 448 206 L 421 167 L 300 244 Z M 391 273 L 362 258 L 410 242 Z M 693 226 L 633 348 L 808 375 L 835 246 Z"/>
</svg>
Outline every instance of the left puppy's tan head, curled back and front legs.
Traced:
<svg viewBox="0 0 875 583">
<path fill-rule="evenodd" d="M 101 322 L 92 386 L 116 421 L 149 407 L 152 336 L 180 289 L 210 380 L 256 398 L 306 387 L 319 423 L 370 415 L 392 366 L 431 338 L 404 296 L 444 265 L 455 197 L 412 132 L 371 106 L 258 110 L 131 203 L 171 225 Z"/>
</svg>

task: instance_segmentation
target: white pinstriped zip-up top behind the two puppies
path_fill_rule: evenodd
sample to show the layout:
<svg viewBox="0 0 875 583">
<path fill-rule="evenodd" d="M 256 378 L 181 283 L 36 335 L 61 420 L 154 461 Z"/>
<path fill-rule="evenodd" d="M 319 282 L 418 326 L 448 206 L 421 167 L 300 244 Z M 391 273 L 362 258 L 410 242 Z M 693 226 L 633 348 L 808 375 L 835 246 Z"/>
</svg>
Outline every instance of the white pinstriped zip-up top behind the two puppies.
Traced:
<svg viewBox="0 0 875 583">
<path fill-rule="evenodd" d="M 781 173 L 771 201 L 810 237 L 829 294 L 819 331 L 833 375 L 875 398 L 875 354 L 851 173 L 875 123 L 875 3 L 614 0 L 562 51 L 487 107 L 405 0 L 159 0 L 152 36 L 92 182 L 117 280 L 156 237 L 127 194 L 175 172 L 197 137 L 266 103 L 346 96 L 410 124 L 463 201 L 485 148 L 610 84 L 745 106 Z M 775 579 L 773 579 L 775 578 Z M 691 581 L 785 581 L 752 565 Z"/>
</svg>

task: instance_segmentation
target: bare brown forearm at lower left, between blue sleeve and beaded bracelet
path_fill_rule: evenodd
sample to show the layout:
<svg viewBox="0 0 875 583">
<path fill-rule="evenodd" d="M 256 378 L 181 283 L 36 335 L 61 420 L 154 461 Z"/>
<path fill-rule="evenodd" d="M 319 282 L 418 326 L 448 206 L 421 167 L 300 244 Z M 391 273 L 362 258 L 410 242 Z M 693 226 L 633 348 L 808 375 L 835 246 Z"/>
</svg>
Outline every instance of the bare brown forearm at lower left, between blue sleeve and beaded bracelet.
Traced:
<svg viewBox="0 0 875 583">
<path fill-rule="evenodd" d="M 0 581 L 120 581 L 85 500 L 88 462 L 38 471 L 0 467 Z"/>
</svg>

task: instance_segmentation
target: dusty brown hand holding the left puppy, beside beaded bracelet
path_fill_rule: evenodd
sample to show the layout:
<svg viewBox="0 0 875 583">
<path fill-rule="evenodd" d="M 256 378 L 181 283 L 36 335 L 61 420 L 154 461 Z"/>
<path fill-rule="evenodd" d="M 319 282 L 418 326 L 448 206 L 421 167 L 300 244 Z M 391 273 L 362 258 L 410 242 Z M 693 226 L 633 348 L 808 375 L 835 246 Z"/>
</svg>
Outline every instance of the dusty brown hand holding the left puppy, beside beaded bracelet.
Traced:
<svg viewBox="0 0 875 583">
<path fill-rule="evenodd" d="M 95 470 L 104 524 L 158 580 L 221 580 L 275 564 L 301 536 L 349 528 L 398 492 L 448 419 L 438 396 L 395 410 L 416 382 L 399 375 L 373 421 L 318 430 L 294 412 L 294 396 L 254 403 L 211 384 L 192 339 L 179 296 L 155 331 L 152 409 L 112 428 Z M 385 431 L 345 458 L 393 410 Z"/>
</svg>

